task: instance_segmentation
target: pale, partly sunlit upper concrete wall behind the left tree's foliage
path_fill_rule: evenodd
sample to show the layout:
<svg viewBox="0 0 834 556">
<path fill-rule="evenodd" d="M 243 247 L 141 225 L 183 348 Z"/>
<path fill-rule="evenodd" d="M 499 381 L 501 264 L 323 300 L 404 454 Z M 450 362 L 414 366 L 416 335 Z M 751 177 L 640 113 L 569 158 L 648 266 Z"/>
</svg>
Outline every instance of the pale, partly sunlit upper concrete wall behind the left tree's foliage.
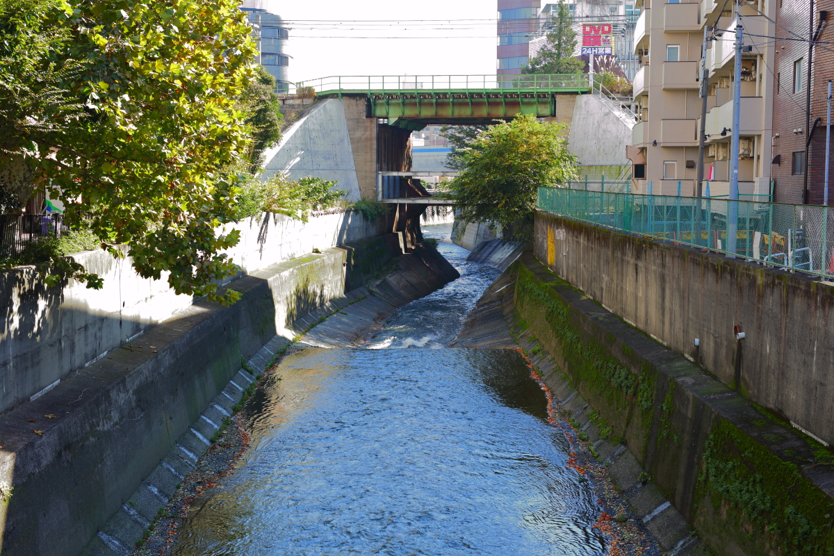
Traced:
<svg viewBox="0 0 834 556">
<path fill-rule="evenodd" d="M 361 213 L 314 216 L 309 223 L 264 214 L 229 226 L 241 231 L 229 251 L 243 273 L 383 232 Z M 45 288 L 33 268 L 0 273 L 0 412 L 29 400 L 43 388 L 86 368 L 149 325 L 191 306 L 193 298 L 175 295 L 166 279 L 140 278 L 130 259 L 103 251 L 73 256 L 104 278 L 101 290 L 70 281 Z"/>
</svg>

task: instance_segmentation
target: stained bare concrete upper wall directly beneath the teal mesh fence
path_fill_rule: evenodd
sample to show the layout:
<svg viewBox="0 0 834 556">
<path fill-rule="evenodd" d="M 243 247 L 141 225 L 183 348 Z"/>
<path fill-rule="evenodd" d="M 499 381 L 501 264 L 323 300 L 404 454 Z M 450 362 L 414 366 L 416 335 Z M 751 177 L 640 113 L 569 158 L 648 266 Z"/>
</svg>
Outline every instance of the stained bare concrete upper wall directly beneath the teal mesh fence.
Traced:
<svg viewBox="0 0 834 556">
<path fill-rule="evenodd" d="M 535 226 L 536 257 L 565 281 L 834 443 L 831 284 L 549 213 L 536 213 Z"/>
</svg>

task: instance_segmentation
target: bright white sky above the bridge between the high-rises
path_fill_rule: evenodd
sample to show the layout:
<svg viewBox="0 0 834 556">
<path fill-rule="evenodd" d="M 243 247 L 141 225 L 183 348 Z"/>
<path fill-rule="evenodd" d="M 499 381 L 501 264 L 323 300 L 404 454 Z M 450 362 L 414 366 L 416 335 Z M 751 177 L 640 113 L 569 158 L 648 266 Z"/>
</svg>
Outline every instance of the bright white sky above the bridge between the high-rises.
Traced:
<svg viewBox="0 0 834 556">
<path fill-rule="evenodd" d="M 293 82 L 336 75 L 495 75 L 495 0 L 264 0 L 264 8 L 291 28 L 285 53 L 293 57 Z"/>
</svg>

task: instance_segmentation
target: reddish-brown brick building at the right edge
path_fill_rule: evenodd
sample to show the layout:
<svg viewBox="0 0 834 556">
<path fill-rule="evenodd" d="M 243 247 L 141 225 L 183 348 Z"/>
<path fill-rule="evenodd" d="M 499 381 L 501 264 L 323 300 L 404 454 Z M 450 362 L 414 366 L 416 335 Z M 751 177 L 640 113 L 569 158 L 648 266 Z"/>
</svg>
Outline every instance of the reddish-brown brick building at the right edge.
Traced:
<svg viewBox="0 0 834 556">
<path fill-rule="evenodd" d="M 776 63 L 773 71 L 776 78 L 776 94 L 773 98 L 773 133 L 774 156 L 780 155 L 781 163 L 772 165 L 772 177 L 776 180 L 774 189 L 777 203 L 802 203 L 804 176 L 793 174 L 793 153 L 804 151 L 808 129 L 806 129 L 806 88 L 809 76 L 811 81 L 811 124 L 817 117 L 822 118 L 821 125 L 811 140 L 811 148 L 806 161 L 808 172 L 808 202 L 821 204 L 823 199 L 823 173 L 825 163 L 826 136 L 826 93 L 827 82 L 834 79 L 834 45 L 818 45 L 813 53 L 811 71 L 808 68 L 808 44 L 803 41 L 786 40 L 787 38 L 807 38 L 809 34 L 809 16 L 811 0 L 774 0 L 776 6 Z M 814 12 L 826 10 L 829 21 L 823 28 L 820 41 L 834 42 L 834 0 L 813 0 Z M 816 19 L 815 19 L 816 26 Z M 796 35 L 791 34 L 796 33 Z M 756 38 L 764 41 L 766 38 Z M 802 60 L 802 88 L 794 92 L 794 63 Z M 802 128 L 802 133 L 794 133 Z M 834 130 L 832 130 L 834 133 Z M 834 149 L 832 149 L 834 150 Z M 832 188 L 831 193 L 834 193 Z M 831 195 L 834 204 L 834 195 Z"/>
</svg>

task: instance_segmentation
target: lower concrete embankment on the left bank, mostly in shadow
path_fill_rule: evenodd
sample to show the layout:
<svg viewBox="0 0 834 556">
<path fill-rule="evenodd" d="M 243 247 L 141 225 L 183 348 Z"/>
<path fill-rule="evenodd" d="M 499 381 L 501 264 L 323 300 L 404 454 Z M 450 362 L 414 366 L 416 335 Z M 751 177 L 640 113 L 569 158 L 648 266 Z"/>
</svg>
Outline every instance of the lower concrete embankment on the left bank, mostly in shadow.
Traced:
<svg viewBox="0 0 834 556">
<path fill-rule="evenodd" d="M 360 299 L 357 284 L 412 284 L 406 303 L 455 277 L 433 249 L 402 254 L 393 234 L 311 253 L 230 284 L 232 307 L 194 303 L 5 413 L 0 551 L 66 556 L 93 539 L 85 553 L 128 553 L 248 387 L 242 358 L 262 372 L 315 315 Z"/>
</svg>

